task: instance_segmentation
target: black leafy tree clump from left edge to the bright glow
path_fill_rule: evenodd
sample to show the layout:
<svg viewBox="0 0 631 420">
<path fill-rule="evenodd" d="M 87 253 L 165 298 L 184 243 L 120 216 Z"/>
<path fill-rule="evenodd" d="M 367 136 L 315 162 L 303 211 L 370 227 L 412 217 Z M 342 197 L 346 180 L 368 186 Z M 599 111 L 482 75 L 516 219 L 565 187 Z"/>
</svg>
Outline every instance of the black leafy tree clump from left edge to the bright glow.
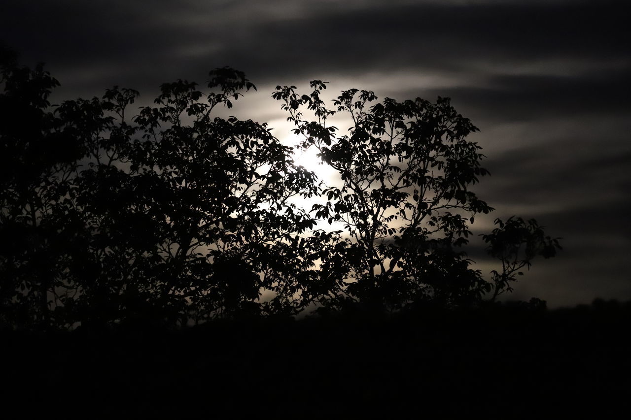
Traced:
<svg viewBox="0 0 631 420">
<path fill-rule="evenodd" d="M 207 95 L 166 83 L 133 121 L 134 90 L 51 111 L 58 83 L 41 67 L 8 63 L 3 84 L 2 297 L 13 322 L 292 314 L 321 294 L 315 240 L 298 236 L 315 221 L 292 202 L 316 192 L 314 175 L 266 124 L 212 115 L 254 88 L 243 73 L 211 72 Z"/>
</svg>

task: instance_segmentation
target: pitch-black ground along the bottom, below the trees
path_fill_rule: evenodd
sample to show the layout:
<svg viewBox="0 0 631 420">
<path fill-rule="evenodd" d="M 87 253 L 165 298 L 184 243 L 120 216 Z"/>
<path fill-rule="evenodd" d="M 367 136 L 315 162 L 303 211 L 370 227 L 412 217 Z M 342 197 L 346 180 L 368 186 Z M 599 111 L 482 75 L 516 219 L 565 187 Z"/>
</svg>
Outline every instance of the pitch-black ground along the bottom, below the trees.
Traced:
<svg viewBox="0 0 631 420">
<path fill-rule="evenodd" d="M 2 333 L 19 417 L 548 417 L 631 407 L 631 305 Z"/>
</svg>

